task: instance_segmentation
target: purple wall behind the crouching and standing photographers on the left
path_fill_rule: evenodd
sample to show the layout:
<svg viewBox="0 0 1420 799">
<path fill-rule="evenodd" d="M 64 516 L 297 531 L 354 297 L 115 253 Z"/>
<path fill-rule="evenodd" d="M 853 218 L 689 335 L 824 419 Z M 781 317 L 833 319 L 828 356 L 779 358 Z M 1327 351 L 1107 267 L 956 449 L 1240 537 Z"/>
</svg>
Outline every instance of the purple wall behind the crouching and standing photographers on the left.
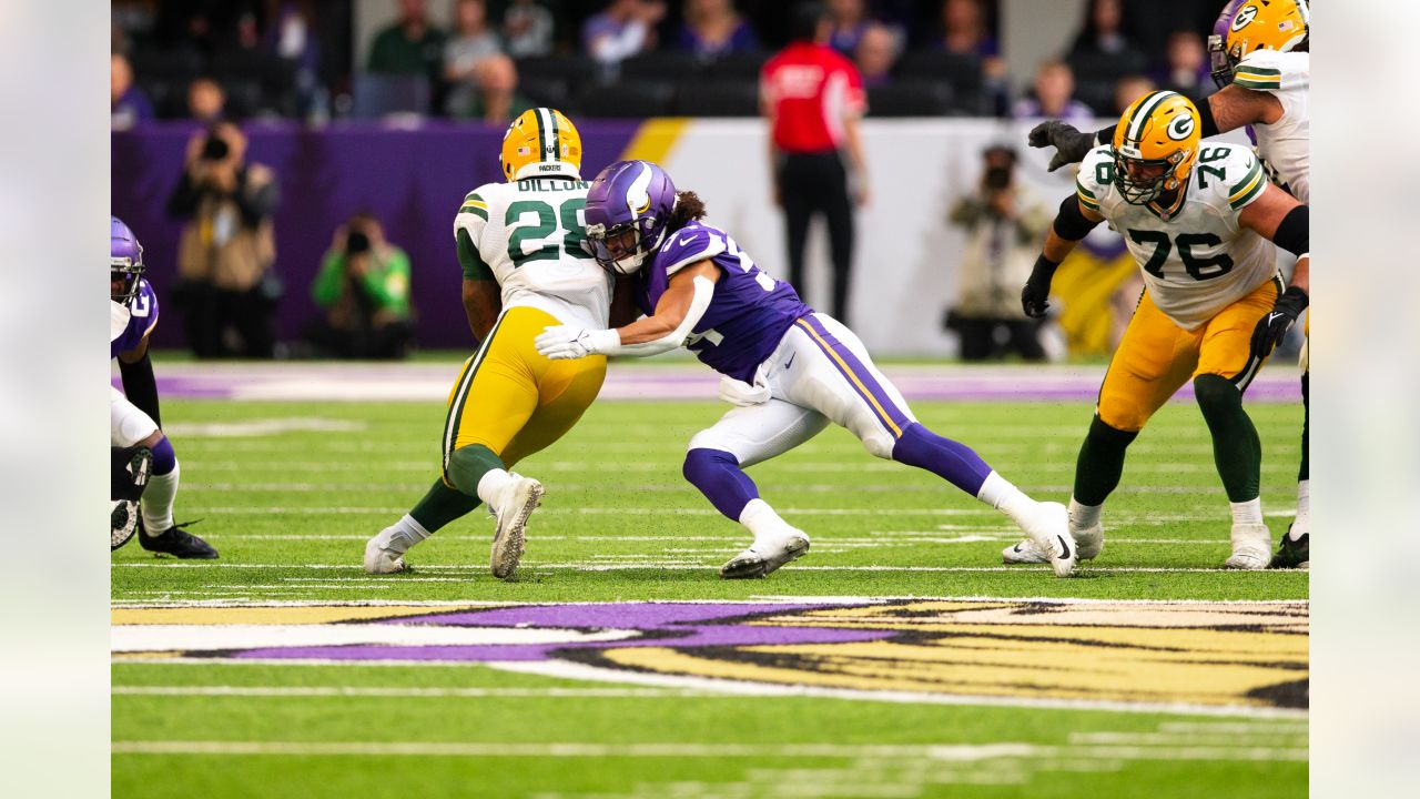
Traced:
<svg viewBox="0 0 1420 799">
<path fill-rule="evenodd" d="M 616 161 L 640 122 L 605 121 L 579 127 L 588 179 Z M 112 209 L 139 236 L 149 277 L 168 314 L 153 331 L 158 347 L 185 347 L 170 304 L 182 223 L 166 213 L 182 173 L 187 122 L 153 124 L 112 134 Z M 275 272 L 285 284 L 277 311 L 283 340 L 317 316 L 310 286 L 331 235 L 351 213 L 373 212 L 385 235 L 409 253 L 422 347 L 469 348 L 471 336 L 459 300 L 453 216 L 463 196 L 500 181 L 501 125 L 425 122 L 417 127 L 341 124 L 312 131 L 290 122 L 254 122 L 247 159 L 280 176 Z"/>
</svg>

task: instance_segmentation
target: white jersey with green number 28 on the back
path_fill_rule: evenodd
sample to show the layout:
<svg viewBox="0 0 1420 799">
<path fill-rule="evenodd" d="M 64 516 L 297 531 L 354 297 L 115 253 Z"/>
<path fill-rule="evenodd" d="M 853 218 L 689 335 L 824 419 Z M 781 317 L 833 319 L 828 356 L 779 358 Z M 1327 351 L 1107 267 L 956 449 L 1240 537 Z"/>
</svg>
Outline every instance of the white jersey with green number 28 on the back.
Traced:
<svg viewBox="0 0 1420 799">
<path fill-rule="evenodd" d="M 491 274 L 503 307 L 532 307 L 562 324 L 602 330 L 612 276 L 582 250 L 586 181 L 532 178 L 486 183 L 453 220 L 464 277 Z"/>
</svg>

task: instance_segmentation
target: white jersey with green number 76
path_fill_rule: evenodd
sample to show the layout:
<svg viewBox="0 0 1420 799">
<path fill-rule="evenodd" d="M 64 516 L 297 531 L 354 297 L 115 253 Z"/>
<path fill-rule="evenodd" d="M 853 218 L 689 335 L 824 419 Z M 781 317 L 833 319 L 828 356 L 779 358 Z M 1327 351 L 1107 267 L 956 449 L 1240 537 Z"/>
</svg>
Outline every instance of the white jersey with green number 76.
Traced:
<svg viewBox="0 0 1420 799">
<path fill-rule="evenodd" d="M 1119 230 L 1143 272 L 1149 296 L 1169 318 L 1193 330 L 1277 274 L 1277 250 L 1238 225 L 1262 196 L 1257 156 L 1237 145 L 1198 148 L 1177 212 L 1125 202 L 1115 186 L 1113 149 L 1091 151 L 1079 165 L 1078 196 Z"/>
</svg>

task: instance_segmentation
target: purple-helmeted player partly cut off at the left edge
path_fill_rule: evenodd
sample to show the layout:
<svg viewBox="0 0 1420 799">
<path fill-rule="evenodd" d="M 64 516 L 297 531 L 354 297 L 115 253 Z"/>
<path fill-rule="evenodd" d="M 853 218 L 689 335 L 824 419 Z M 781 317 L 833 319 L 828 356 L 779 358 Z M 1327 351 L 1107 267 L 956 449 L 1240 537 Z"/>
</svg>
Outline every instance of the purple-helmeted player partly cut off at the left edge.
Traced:
<svg viewBox="0 0 1420 799">
<path fill-rule="evenodd" d="M 142 495 L 142 518 L 132 526 L 139 532 L 138 543 L 149 552 L 176 557 L 217 557 L 217 550 L 207 542 L 173 523 L 178 455 L 159 429 L 158 381 L 153 380 L 153 364 L 148 358 L 148 334 L 158 326 L 158 297 L 143 279 L 143 247 L 138 243 L 138 236 L 114 216 L 111 237 L 109 357 L 118 358 L 124 391 L 109 387 L 109 446 L 115 469 L 131 472 L 131 482 L 141 482 L 146 476 L 146 489 L 135 492 Z M 143 449 L 152 454 L 151 475 L 141 473 L 146 472 L 142 463 L 148 461 Z M 118 486 L 125 478 L 115 476 L 114 482 Z M 118 522 L 115 509 L 115 526 Z M 118 533 L 119 530 L 114 530 L 114 549 L 128 540 L 128 536 Z"/>
</svg>

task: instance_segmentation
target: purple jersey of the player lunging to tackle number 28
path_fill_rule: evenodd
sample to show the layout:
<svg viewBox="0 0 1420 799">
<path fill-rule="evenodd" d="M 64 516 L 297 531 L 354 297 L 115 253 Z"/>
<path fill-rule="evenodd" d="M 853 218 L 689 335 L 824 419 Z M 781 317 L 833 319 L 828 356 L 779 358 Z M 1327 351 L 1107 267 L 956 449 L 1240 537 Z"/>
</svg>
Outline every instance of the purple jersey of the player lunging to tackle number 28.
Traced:
<svg viewBox="0 0 1420 799">
<path fill-rule="evenodd" d="M 792 286 L 755 266 L 728 233 L 692 222 L 666 233 L 650 266 L 642 270 L 640 310 L 650 314 L 670 276 L 706 259 L 720 267 L 720 280 L 686 347 L 716 371 L 754 382 L 754 370 L 778 347 L 784 331 L 814 309 L 798 299 Z"/>
</svg>

